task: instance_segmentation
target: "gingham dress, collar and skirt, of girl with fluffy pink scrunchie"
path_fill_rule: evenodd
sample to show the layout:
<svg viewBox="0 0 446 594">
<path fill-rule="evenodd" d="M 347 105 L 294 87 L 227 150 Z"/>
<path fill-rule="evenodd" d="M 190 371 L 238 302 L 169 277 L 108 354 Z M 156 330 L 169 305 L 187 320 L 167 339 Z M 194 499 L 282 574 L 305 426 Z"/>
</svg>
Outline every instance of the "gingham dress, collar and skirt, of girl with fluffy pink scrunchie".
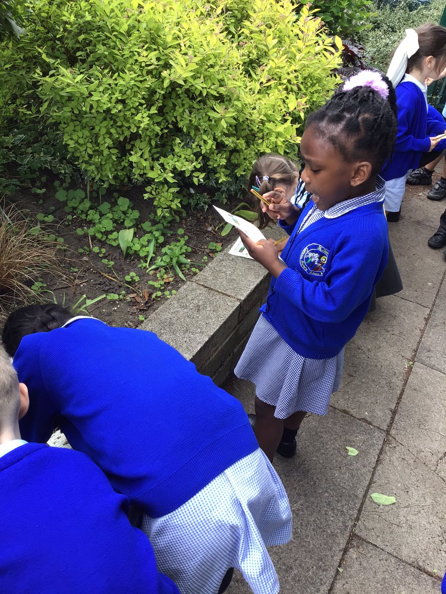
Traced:
<svg viewBox="0 0 446 594">
<path fill-rule="evenodd" d="M 378 176 L 376 191 L 370 194 L 344 200 L 325 211 L 313 206 L 300 223 L 298 233 L 323 217 L 334 219 L 365 204 L 382 203 L 384 192 L 384 179 Z M 299 355 L 261 315 L 235 367 L 235 375 L 252 381 L 257 398 L 275 406 L 275 417 L 287 419 L 298 410 L 325 415 L 331 394 L 339 390 L 343 364 L 344 349 L 330 359 Z"/>
</svg>

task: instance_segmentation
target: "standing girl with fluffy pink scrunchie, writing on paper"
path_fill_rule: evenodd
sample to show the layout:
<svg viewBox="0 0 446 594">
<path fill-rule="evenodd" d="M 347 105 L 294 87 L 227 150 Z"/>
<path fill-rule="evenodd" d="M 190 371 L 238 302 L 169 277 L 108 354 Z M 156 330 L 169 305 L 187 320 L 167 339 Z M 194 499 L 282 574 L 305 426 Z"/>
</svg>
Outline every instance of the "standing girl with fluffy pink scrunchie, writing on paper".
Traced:
<svg viewBox="0 0 446 594">
<path fill-rule="evenodd" d="M 387 263 L 385 182 L 378 174 L 396 132 L 388 80 L 371 71 L 350 78 L 307 118 L 301 179 L 312 200 L 301 212 L 284 189 L 265 194 L 266 214 L 290 235 L 281 260 L 271 240 L 255 243 L 240 233 L 273 277 L 235 368 L 256 386 L 255 434 L 270 460 L 275 451 L 294 455 L 304 416 L 324 415 L 340 386 L 344 347 Z"/>
</svg>

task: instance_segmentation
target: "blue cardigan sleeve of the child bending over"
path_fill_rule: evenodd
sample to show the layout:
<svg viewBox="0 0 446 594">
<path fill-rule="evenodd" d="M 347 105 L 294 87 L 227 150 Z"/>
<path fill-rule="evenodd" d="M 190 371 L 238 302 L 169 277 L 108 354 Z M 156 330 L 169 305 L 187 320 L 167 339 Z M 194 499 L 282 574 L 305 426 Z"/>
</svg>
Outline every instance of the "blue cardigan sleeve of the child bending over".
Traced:
<svg viewBox="0 0 446 594">
<path fill-rule="evenodd" d="M 45 443 L 56 426 L 56 409 L 49 398 L 40 370 L 40 347 L 44 332 L 28 334 L 20 342 L 12 364 L 18 380 L 29 390 L 29 410 L 20 419 L 20 433 L 24 440 Z"/>
</svg>

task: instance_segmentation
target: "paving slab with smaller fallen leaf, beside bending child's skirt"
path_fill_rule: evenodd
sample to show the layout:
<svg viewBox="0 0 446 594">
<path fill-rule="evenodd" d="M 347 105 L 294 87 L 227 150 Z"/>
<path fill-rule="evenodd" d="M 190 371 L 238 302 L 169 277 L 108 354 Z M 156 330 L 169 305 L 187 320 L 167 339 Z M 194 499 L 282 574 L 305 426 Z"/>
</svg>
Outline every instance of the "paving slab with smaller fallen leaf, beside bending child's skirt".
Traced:
<svg viewBox="0 0 446 594">
<path fill-rule="evenodd" d="M 249 386 L 233 381 L 228 388 L 252 410 Z M 383 439 L 379 429 L 330 410 L 304 419 L 296 457 L 275 459 L 294 517 L 293 541 L 270 549 L 281 594 L 328 592 Z M 359 454 L 348 456 L 347 445 Z M 238 577 L 228 594 L 250 592 Z"/>
</svg>

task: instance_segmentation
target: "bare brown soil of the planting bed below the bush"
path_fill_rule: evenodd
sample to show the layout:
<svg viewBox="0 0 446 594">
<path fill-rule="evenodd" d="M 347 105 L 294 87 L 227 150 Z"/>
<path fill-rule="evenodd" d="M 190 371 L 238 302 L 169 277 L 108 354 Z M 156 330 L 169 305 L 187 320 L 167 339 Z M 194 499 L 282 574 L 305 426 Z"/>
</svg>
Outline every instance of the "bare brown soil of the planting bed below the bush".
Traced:
<svg viewBox="0 0 446 594">
<path fill-rule="evenodd" d="M 150 205 L 143 198 L 143 188 L 130 187 L 120 188 L 119 194 L 127 197 L 133 203 L 133 208 L 140 211 L 140 220 L 147 220 L 150 215 Z M 35 298 L 30 298 L 29 302 L 40 301 L 58 301 L 60 304 L 65 303 L 67 307 L 72 307 L 78 299 L 86 295 L 88 299 L 94 299 L 100 295 L 110 295 L 111 293 L 120 295 L 117 301 L 108 300 L 106 298 L 100 299 L 95 304 L 89 307 L 90 315 L 100 318 L 112 326 L 126 326 L 137 327 L 143 322 L 150 311 L 158 308 L 164 301 L 168 299 L 164 295 L 164 290 L 168 290 L 170 294 L 172 291 L 178 290 L 183 285 L 184 280 L 178 277 L 174 270 L 171 269 L 167 277 L 165 277 L 164 289 L 156 289 L 151 285 L 147 285 L 147 280 L 157 280 L 155 276 L 150 275 L 142 268 L 138 267 L 140 257 L 138 255 L 128 255 L 124 258 L 123 252 L 119 245 L 117 247 L 98 241 L 92 237 L 91 243 L 89 236 L 77 235 L 76 229 L 81 226 L 80 219 L 73 219 L 70 222 L 66 221 L 67 213 L 64 211 L 65 203 L 61 203 L 54 197 L 54 187 L 48 188 L 46 193 L 42 196 L 39 194 L 32 194 L 31 192 L 16 193 L 14 197 L 8 198 L 6 204 L 14 204 L 23 216 L 29 219 L 32 225 L 37 224 L 36 215 L 43 213 L 45 215 L 52 214 L 54 221 L 52 223 L 41 223 L 41 226 L 48 229 L 49 233 L 53 233 L 56 237 L 64 239 L 63 257 L 61 258 L 61 268 L 63 274 L 60 278 L 42 277 L 42 281 L 46 283 L 43 291 L 36 295 Z M 108 200 L 111 204 L 116 200 L 115 198 L 103 197 L 103 200 Z M 39 204 L 42 202 L 42 204 Z M 237 202 L 236 202 L 237 203 Z M 216 206 L 221 206 L 216 203 Z M 224 205 L 224 208 L 230 210 L 230 204 Z M 210 242 L 221 245 L 224 248 L 226 245 L 232 243 L 237 238 L 237 234 L 232 230 L 229 235 L 222 237 L 220 234 L 222 219 L 217 213 L 214 214 L 213 208 L 208 208 L 205 211 L 186 211 L 184 217 L 178 222 L 171 222 L 166 225 L 167 228 L 174 232 L 179 229 L 184 229 L 184 235 L 187 236 L 186 245 L 191 248 L 191 251 L 186 254 L 191 263 L 197 263 L 197 269 L 202 270 L 203 266 L 214 257 L 218 252 L 209 249 Z M 220 226 L 220 230 L 216 228 Z M 169 239 L 171 238 L 171 239 Z M 172 236 L 166 236 L 164 244 L 160 245 L 158 251 L 155 252 L 152 258 L 152 263 L 155 262 L 156 256 L 161 254 L 161 247 L 167 245 L 169 241 L 178 241 L 178 236 L 175 233 Z M 94 246 L 105 248 L 105 254 L 98 255 L 92 251 L 89 254 L 79 254 L 79 249 L 91 248 Z M 205 262 L 203 263 L 203 257 Z M 108 268 L 102 263 L 103 258 L 113 261 L 114 266 Z M 125 275 L 134 272 L 140 277 L 137 283 L 127 283 L 124 280 Z M 183 270 L 186 280 L 194 276 L 190 269 Z M 38 280 L 36 278 L 36 280 Z M 161 297 L 156 295 L 157 290 L 162 290 Z M 122 293 L 124 291 L 124 293 Z M 0 325 L 4 322 L 5 317 L 10 314 L 17 307 L 24 305 L 23 302 L 12 302 L 8 299 L 2 299 L 0 303 Z"/>
</svg>

